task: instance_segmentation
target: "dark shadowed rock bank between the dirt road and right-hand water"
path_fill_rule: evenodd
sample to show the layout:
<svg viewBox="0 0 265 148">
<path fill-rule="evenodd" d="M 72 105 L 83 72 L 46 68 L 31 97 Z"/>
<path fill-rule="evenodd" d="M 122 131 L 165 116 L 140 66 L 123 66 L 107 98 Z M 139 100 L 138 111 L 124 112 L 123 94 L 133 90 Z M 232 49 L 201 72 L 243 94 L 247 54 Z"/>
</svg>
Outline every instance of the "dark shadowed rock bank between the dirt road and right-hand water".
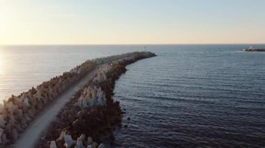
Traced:
<svg viewBox="0 0 265 148">
<path fill-rule="evenodd" d="M 151 56 L 156 55 L 138 55 L 109 63 L 108 69 L 100 70 L 61 109 L 36 147 L 103 147 L 105 142 L 111 144 L 114 126 L 121 127 L 122 118 L 119 101 L 112 99 L 115 81 L 126 72 L 126 65 Z M 94 91 L 96 97 L 93 97 Z M 85 103 L 84 98 L 88 100 Z"/>
</svg>

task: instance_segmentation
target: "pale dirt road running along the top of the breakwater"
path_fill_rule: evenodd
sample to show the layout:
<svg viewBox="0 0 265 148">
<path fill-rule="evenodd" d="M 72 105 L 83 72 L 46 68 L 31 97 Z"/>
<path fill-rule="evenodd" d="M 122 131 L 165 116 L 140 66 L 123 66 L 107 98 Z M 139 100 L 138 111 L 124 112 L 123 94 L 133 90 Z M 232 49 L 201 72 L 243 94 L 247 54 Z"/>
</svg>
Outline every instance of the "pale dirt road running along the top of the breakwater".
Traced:
<svg viewBox="0 0 265 148">
<path fill-rule="evenodd" d="M 123 60 L 121 58 L 120 60 Z M 83 88 L 83 86 L 98 73 L 99 67 L 107 67 L 107 63 L 96 66 L 89 74 L 87 74 L 83 79 L 81 79 L 78 83 L 75 83 L 72 87 L 70 87 L 66 92 L 63 92 L 61 96 L 56 99 L 48 108 L 46 108 L 43 113 L 40 113 L 36 120 L 31 122 L 31 124 L 27 127 L 26 131 L 22 133 L 20 138 L 15 143 L 15 147 L 34 147 L 35 143 L 40 138 L 41 133 L 47 129 L 50 122 L 56 119 L 56 115 L 59 113 L 59 110 L 66 105 L 66 103 L 70 100 L 73 95 L 79 90 Z"/>
</svg>

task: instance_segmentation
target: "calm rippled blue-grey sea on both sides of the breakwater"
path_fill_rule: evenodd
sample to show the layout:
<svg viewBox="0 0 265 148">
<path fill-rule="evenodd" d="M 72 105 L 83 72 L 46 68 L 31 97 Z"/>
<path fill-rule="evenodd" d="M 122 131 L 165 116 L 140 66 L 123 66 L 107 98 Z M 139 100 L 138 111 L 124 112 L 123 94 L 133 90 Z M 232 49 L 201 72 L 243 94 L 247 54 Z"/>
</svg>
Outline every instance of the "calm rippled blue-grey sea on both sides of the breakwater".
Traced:
<svg viewBox="0 0 265 148">
<path fill-rule="evenodd" d="M 129 65 L 116 81 L 114 99 L 126 109 L 123 125 L 128 125 L 116 132 L 116 142 L 122 147 L 265 147 L 265 52 L 241 51 L 245 47 L 148 46 L 158 56 Z M 142 49 L 0 47 L 0 99 L 84 60 Z"/>
</svg>

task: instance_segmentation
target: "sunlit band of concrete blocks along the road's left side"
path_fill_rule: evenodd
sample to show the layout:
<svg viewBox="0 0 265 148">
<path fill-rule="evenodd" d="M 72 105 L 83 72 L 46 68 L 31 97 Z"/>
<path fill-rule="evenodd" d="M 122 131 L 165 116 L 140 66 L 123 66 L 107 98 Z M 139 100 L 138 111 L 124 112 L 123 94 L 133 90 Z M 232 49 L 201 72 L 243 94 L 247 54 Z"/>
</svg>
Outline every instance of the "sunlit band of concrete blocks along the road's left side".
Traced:
<svg viewBox="0 0 265 148">
<path fill-rule="evenodd" d="M 71 85 L 82 80 L 86 74 L 98 65 L 145 55 L 147 52 L 133 52 L 118 56 L 96 58 L 56 76 L 50 81 L 45 81 L 28 92 L 22 92 L 18 96 L 12 95 L 0 105 L 0 144 L 12 145 L 17 138 L 30 126 L 31 122 L 43 113 L 45 108 L 52 104 Z M 38 135 L 37 135 L 38 136 Z"/>
</svg>

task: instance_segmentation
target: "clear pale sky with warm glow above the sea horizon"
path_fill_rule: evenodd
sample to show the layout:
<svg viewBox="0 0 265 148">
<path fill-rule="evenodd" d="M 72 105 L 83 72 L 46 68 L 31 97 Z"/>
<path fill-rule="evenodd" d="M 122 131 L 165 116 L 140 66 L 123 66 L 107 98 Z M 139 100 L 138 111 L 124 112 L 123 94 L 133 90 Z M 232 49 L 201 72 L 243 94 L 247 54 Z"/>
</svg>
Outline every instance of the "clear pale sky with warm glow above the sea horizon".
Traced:
<svg viewBox="0 0 265 148">
<path fill-rule="evenodd" d="M 0 0 L 0 44 L 253 43 L 264 0 Z"/>
</svg>

